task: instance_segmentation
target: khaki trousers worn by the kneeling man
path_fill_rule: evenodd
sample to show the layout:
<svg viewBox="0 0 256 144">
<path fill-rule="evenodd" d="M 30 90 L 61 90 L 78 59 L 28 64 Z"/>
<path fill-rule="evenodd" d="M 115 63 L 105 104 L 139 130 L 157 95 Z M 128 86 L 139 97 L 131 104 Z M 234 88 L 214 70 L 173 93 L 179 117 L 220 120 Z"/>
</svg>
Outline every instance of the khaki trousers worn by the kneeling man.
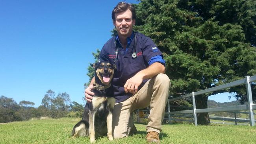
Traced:
<svg viewBox="0 0 256 144">
<path fill-rule="evenodd" d="M 128 137 L 133 126 L 131 113 L 135 109 L 143 109 L 148 106 L 150 106 L 150 114 L 146 131 L 160 133 L 170 87 L 168 76 L 158 74 L 149 79 L 137 94 L 124 102 L 116 103 L 113 110 L 113 137 Z"/>
</svg>

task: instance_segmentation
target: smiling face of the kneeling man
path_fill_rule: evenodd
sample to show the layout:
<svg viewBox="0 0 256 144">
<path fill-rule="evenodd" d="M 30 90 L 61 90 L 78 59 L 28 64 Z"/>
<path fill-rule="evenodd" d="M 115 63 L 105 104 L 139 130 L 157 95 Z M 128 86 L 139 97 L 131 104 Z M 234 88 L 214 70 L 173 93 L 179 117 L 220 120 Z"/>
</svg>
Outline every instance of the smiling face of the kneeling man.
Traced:
<svg viewBox="0 0 256 144">
<path fill-rule="evenodd" d="M 132 26 L 135 24 L 130 9 L 121 13 L 115 13 L 115 21 L 113 21 L 113 24 L 119 36 L 129 37 L 132 34 Z"/>
</svg>

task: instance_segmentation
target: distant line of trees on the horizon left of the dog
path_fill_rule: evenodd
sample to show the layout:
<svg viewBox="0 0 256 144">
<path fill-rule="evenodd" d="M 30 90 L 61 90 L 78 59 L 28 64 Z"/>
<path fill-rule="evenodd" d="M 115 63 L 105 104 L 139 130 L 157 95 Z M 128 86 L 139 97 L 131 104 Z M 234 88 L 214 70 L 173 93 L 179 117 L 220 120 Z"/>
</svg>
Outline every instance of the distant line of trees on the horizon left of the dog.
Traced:
<svg viewBox="0 0 256 144">
<path fill-rule="evenodd" d="M 35 103 L 22 100 L 16 103 L 12 98 L 0 97 L 0 123 L 24 121 L 31 118 L 82 117 L 83 105 L 71 102 L 69 94 L 48 90 L 42 99 L 42 105 L 35 108 Z"/>
</svg>

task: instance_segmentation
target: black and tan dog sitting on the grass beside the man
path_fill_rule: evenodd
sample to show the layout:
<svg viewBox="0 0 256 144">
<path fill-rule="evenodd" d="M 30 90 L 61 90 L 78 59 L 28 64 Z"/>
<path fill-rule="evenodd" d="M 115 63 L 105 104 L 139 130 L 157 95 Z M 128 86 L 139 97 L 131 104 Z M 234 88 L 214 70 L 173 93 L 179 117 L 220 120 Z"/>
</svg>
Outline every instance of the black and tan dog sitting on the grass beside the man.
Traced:
<svg viewBox="0 0 256 144">
<path fill-rule="evenodd" d="M 107 62 L 93 64 L 95 68 L 95 83 L 91 90 L 94 92 L 92 102 L 87 102 L 84 107 L 83 118 L 78 122 L 73 130 L 72 136 L 89 136 L 90 142 L 95 142 L 95 131 L 98 135 L 108 135 L 109 140 L 113 140 L 112 135 L 112 113 L 115 105 L 114 92 L 111 89 L 115 65 Z"/>
</svg>

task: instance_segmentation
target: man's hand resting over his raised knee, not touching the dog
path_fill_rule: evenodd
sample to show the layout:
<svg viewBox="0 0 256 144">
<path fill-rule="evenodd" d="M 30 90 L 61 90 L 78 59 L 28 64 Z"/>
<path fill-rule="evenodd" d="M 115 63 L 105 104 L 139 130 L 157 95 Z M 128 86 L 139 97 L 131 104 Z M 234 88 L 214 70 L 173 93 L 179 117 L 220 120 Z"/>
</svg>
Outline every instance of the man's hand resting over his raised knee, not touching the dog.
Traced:
<svg viewBox="0 0 256 144">
<path fill-rule="evenodd" d="M 124 92 L 127 94 L 128 92 L 132 93 L 133 95 L 138 92 L 138 87 L 141 85 L 143 81 L 143 76 L 140 74 L 136 74 L 132 78 L 128 79 L 124 84 Z"/>
</svg>

